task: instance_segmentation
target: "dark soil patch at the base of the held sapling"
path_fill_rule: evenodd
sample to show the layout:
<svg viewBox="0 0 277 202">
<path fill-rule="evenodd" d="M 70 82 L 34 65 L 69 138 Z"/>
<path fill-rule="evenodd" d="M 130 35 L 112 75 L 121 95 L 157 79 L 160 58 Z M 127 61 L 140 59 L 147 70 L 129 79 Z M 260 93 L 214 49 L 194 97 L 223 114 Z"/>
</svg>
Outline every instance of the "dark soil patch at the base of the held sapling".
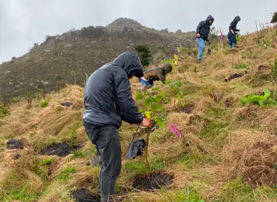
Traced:
<svg viewBox="0 0 277 202">
<path fill-rule="evenodd" d="M 151 173 L 149 179 L 146 175 L 138 175 L 135 177 L 132 187 L 140 190 L 153 190 L 166 187 L 173 182 L 173 176 L 161 172 Z"/>
</svg>

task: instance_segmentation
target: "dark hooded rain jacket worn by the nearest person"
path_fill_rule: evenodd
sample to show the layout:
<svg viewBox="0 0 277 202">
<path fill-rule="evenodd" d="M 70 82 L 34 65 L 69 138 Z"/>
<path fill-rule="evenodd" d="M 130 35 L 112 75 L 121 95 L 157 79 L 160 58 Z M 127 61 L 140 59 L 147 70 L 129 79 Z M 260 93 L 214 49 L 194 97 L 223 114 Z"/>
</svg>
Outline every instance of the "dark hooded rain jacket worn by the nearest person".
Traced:
<svg viewBox="0 0 277 202">
<path fill-rule="evenodd" d="M 122 120 L 141 124 L 143 115 L 138 112 L 132 98 L 127 75 L 132 76 L 142 70 L 140 59 L 132 51 L 122 53 L 113 62 L 96 70 L 85 86 L 83 121 L 117 128 L 120 128 Z"/>
</svg>

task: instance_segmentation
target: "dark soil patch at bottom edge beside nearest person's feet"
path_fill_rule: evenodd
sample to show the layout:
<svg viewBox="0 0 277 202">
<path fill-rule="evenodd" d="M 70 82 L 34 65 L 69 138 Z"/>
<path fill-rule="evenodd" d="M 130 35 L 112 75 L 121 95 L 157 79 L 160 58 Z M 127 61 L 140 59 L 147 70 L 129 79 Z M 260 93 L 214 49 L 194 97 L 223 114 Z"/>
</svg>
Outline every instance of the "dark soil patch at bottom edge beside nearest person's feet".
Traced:
<svg viewBox="0 0 277 202">
<path fill-rule="evenodd" d="M 73 191 L 72 197 L 78 202 L 100 201 L 100 195 L 92 194 L 86 188 Z"/>
</svg>

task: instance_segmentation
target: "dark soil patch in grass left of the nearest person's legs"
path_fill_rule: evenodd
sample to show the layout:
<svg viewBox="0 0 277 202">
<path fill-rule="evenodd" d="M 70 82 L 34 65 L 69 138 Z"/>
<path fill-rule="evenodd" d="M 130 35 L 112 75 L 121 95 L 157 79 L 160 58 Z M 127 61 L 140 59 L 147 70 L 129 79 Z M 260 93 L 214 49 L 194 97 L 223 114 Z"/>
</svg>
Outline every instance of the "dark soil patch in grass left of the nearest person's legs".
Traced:
<svg viewBox="0 0 277 202">
<path fill-rule="evenodd" d="M 53 143 L 50 146 L 47 146 L 46 148 L 41 150 L 39 153 L 41 155 L 46 155 L 46 156 L 56 155 L 58 157 L 65 157 L 67 155 L 70 155 L 72 150 L 76 150 L 78 148 L 80 148 L 80 146 L 73 147 L 67 143 L 59 142 L 59 143 Z"/>
</svg>

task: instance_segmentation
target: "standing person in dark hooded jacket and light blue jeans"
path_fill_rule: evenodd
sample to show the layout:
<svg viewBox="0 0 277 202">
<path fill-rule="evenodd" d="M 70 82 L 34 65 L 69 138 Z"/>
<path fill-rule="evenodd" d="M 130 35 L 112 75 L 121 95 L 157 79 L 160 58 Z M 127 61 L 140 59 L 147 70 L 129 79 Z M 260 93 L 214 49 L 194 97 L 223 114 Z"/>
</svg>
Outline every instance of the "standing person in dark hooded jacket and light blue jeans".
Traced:
<svg viewBox="0 0 277 202">
<path fill-rule="evenodd" d="M 210 41 L 208 36 L 210 34 L 211 26 L 214 22 L 213 16 L 209 15 L 205 21 L 201 21 L 196 28 L 196 42 L 198 44 L 199 54 L 198 62 L 202 62 L 202 55 L 205 50 L 204 40 Z"/>
</svg>

